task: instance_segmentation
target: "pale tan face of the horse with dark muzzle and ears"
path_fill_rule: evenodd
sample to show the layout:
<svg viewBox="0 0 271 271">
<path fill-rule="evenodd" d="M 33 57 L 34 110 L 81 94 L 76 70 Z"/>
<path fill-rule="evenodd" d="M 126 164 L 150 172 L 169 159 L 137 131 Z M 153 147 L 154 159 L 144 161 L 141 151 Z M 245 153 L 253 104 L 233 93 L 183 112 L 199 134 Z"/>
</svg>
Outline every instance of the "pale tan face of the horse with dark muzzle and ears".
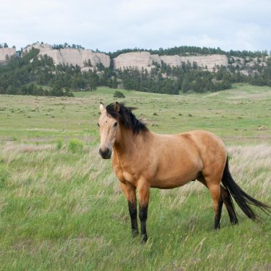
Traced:
<svg viewBox="0 0 271 271">
<path fill-rule="evenodd" d="M 120 110 L 119 103 L 115 104 L 116 113 Z M 101 137 L 101 148 L 99 153 L 103 159 L 111 158 L 112 148 L 116 141 L 118 132 L 118 121 L 115 118 L 108 115 L 103 103 L 100 103 L 101 116 L 98 120 L 98 127 Z"/>
</svg>

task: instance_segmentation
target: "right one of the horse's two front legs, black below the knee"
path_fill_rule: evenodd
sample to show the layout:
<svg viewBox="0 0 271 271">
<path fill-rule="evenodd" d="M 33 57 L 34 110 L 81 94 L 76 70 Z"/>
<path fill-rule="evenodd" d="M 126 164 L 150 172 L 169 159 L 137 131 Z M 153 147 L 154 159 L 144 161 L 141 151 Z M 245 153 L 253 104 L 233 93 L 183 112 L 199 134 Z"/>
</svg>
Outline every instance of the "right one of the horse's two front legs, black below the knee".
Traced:
<svg viewBox="0 0 271 271">
<path fill-rule="evenodd" d="M 141 238 L 145 243 L 147 236 L 148 200 L 150 198 L 150 184 L 147 180 L 138 180 L 139 219 L 141 224 Z"/>
</svg>

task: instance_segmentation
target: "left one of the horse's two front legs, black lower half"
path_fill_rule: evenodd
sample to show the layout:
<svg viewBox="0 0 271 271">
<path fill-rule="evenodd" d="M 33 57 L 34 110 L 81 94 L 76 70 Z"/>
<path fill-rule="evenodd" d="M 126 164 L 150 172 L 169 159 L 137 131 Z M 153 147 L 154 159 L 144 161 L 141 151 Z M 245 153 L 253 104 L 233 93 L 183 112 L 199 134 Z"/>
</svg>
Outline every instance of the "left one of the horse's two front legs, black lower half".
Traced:
<svg viewBox="0 0 271 271">
<path fill-rule="evenodd" d="M 128 208 L 131 218 L 132 235 L 135 237 L 138 235 L 138 218 L 137 218 L 137 206 L 136 206 L 136 187 L 131 183 L 120 183 L 121 190 L 126 195 L 128 202 Z"/>
</svg>

